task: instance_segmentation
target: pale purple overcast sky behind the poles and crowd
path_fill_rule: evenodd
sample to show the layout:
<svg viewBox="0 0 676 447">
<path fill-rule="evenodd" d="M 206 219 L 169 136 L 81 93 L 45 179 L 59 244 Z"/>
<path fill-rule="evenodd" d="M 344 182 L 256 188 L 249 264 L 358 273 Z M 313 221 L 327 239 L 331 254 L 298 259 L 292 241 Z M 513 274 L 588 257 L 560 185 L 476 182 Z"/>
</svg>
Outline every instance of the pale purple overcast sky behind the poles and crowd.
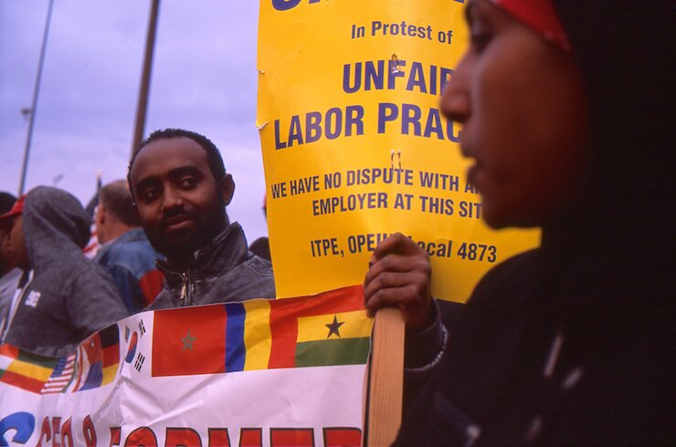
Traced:
<svg viewBox="0 0 676 447">
<path fill-rule="evenodd" d="M 150 0 L 56 0 L 26 190 L 89 202 L 96 175 L 126 174 Z M 162 0 L 145 135 L 179 127 L 213 140 L 237 183 L 228 207 L 249 242 L 267 234 L 256 118 L 259 2 Z M 0 191 L 16 194 L 48 0 L 0 0 Z"/>
</svg>

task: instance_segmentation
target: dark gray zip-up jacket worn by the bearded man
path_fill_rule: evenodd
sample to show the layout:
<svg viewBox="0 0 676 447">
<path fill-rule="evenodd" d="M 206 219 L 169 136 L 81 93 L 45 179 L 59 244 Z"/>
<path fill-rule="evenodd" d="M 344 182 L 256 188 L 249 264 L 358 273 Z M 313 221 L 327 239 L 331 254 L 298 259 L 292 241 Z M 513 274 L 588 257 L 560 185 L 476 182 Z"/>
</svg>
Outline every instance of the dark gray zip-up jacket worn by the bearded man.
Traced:
<svg viewBox="0 0 676 447">
<path fill-rule="evenodd" d="M 164 290 L 148 309 L 275 297 L 272 265 L 248 251 L 238 223 L 229 224 L 211 244 L 195 252 L 185 271 L 164 261 L 157 266 L 164 273 Z"/>
</svg>

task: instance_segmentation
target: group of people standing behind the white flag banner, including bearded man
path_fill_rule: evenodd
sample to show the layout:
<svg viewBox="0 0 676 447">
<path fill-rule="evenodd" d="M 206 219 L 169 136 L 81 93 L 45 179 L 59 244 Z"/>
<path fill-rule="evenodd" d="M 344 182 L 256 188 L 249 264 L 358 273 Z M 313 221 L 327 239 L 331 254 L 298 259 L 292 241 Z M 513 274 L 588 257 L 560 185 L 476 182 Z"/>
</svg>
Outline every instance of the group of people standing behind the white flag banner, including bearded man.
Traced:
<svg viewBox="0 0 676 447">
<path fill-rule="evenodd" d="M 269 260 L 248 250 L 227 217 L 234 191 L 213 142 L 153 132 L 128 179 L 100 189 L 93 260 L 82 254 L 90 215 L 75 197 L 45 186 L 18 200 L 4 193 L 1 342 L 61 357 L 143 309 L 274 298 Z"/>
</svg>

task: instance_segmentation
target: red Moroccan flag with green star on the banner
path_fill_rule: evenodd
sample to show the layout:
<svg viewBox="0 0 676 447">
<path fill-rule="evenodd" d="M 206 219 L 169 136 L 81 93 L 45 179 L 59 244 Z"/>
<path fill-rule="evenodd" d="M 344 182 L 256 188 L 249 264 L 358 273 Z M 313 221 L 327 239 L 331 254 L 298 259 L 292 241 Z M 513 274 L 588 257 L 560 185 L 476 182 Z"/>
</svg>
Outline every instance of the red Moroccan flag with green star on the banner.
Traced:
<svg viewBox="0 0 676 447">
<path fill-rule="evenodd" d="M 156 310 L 153 377 L 226 371 L 225 306 Z"/>
</svg>

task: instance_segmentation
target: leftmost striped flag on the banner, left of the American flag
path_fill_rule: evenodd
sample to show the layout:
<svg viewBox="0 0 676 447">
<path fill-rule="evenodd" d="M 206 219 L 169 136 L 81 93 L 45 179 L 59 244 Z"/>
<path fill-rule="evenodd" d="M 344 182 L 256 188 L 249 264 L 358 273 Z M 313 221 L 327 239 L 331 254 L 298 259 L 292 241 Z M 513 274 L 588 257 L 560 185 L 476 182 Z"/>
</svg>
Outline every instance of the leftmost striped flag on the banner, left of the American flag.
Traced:
<svg viewBox="0 0 676 447">
<path fill-rule="evenodd" d="M 39 356 L 10 345 L 0 346 L 0 381 L 39 393 L 58 359 Z"/>
</svg>

